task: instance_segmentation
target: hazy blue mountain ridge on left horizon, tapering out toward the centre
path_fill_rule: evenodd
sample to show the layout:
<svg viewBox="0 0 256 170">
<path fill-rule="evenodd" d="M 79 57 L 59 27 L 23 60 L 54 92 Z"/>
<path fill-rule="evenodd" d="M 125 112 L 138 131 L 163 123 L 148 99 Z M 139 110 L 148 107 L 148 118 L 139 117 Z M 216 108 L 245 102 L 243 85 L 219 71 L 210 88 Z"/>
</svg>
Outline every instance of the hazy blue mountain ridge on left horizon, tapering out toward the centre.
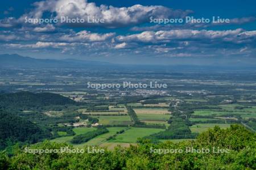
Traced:
<svg viewBox="0 0 256 170">
<path fill-rule="evenodd" d="M 87 68 L 113 66 L 108 62 L 84 61 L 79 59 L 36 59 L 23 57 L 18 54 L 0 54 L 1 67 L 18 67 L 18 68 Z"/>
</svg>

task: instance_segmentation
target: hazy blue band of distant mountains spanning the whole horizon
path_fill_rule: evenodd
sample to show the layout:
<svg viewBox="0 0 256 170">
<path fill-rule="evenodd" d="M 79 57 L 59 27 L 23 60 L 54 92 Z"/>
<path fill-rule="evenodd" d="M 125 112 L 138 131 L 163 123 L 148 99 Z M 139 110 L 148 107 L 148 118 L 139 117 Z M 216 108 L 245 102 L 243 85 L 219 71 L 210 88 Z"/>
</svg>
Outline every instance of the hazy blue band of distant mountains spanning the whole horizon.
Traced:
<svg viewBox="0 0 256 170">
<path fill-rule="evenodd" d="M 175 58 L 174 58 L 175 59 Z M 67 68 L 67 69 L 95 69 L 95 70 L 121 70 L 121 71 L 255 71 L 255 59 L 244 59 L 241 61 L 232 59 L 223 59 L 221 57 L 215 58 L 212 63 L 200 63 L 195 64 L 196 61 L 200 61 L 199 58 L 191 58 L 192 62 L 188 62 L 187 58 L 183 63 L 170 65 L 130 65 L 130 64 L 115 64 L 101 61 L 84 61 L 79 59 L 36 59 L 31 57 L 23 57 L 18 54 L 0 54 L 0 68 L 10 69 L 51 69 L 51 68 Z M 203 60 L 203 58 L 201 59 Z"/>
</svg>

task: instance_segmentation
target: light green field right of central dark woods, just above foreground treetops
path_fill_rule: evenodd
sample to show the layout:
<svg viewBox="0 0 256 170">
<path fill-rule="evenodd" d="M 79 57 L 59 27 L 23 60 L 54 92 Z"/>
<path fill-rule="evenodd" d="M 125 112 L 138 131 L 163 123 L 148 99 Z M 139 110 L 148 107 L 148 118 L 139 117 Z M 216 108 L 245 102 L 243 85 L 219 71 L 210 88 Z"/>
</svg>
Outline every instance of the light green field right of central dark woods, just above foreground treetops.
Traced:
<svg viewBox="0 0 256 170">
<path fill-rule="evenodd" d="M 230 127 L 230 124 L 195 124 L 189 127 L 192 132 L 201 133 L 207 131 L 209 128 L 214 128 L 214 126 L 220 126 L 220 128 L 226 129 Z"/>
</svg>

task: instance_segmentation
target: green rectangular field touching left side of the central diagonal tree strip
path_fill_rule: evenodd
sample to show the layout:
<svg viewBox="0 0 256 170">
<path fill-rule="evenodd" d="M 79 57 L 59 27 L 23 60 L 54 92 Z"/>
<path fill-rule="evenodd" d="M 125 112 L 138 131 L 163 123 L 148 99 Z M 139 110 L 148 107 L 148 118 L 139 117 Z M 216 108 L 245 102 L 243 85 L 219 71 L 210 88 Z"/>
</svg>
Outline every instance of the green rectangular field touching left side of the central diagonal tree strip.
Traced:
<svg viewBox="0 0 256 170">
<path fill-rule="evenodd" d="M 98 118 L 100 124 L 104 125 L 130 125 L 130 116 L 92 116 Z"/>
</svg>

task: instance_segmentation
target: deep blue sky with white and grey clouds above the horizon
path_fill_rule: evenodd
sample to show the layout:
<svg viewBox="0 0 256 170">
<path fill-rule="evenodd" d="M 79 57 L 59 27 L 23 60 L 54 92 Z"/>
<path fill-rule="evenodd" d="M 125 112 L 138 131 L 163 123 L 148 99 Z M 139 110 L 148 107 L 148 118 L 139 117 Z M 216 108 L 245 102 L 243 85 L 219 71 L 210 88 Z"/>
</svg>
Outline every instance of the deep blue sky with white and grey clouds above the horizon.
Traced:
<svg viewBox="0 0 256 170">
<path fill-rule="evenodd" d="M 256 1 L 5 1 L 0 9 L 1 53 L 147 64 L 256 57 Z M 85 23 L 25 22 L 62 16 Z M 150 18 L 187 16 L 210 23 L 150 23 Z M 214 24 L 213 16 L 230 22 Z M 104 22 L 88 23 L 88 18 Z"/>
</svg>

